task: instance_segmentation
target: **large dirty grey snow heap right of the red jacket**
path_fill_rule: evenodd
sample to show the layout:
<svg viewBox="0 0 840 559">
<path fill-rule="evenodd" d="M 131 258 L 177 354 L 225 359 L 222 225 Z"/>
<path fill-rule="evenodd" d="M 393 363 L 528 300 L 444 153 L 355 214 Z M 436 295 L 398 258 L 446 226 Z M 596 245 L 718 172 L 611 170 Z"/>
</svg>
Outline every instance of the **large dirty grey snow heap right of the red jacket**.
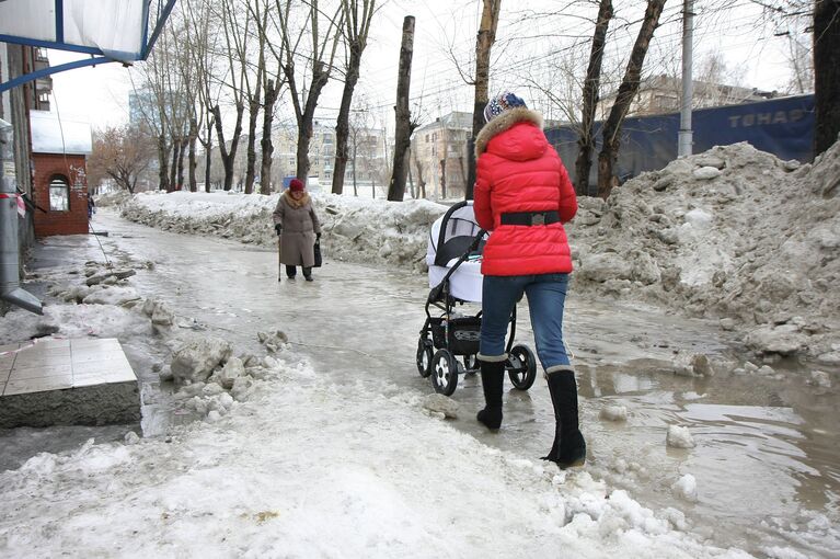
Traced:
<svg viewBox="0 0 840 559">
<path fill-rule="evenodd" d="M 725 318 L 758 353 L 840 363 L 838 166 L 840 144 L 814 166 L 736 144 L 582 199 L 575 288 Z"/>
</svg>

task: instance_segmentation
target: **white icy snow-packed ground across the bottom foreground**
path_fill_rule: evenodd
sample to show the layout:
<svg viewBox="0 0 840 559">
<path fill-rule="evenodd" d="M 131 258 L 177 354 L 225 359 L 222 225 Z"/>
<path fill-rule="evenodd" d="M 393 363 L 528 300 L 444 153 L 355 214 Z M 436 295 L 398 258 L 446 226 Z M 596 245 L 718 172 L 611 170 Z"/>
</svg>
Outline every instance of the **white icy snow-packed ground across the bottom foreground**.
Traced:
<svg viewBox="0 0 840 559">
<path fill-rule="evenodd" d="M 493 450 L 418 397 L 287 360 L 218 422 L 0 474 L 2 555 L 748 557 L 585 471 Z"/>
</svg>

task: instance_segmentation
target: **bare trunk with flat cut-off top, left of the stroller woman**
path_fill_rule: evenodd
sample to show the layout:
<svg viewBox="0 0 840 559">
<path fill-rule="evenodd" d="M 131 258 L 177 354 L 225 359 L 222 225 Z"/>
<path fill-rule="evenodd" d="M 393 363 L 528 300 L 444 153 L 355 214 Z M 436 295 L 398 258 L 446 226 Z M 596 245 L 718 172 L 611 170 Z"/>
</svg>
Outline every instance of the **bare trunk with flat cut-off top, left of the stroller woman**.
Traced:
<svg viewBox="0 0 840 559">
<path fill-rule="evenodd" d="M 403 20 L 403 41 L 400 47 L 400 73 L 396 82 L 396 124 L 394 128 L 394 164 L 391 183 L 388 186 L 388 199 L 402 202 L 405 197 L 406 157 L 411 147 L 412 123 L 409 110 L 409 90 L 411 89 L 412 55 L 414 54 L 414 16 Z"/>
</svg>

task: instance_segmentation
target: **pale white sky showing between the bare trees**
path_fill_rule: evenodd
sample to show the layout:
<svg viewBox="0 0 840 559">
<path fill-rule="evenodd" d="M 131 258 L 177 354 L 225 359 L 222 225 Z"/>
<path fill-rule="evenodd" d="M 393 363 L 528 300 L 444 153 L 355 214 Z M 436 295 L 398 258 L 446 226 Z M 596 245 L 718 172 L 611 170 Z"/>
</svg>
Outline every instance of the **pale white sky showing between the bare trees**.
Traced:
<svg viewBox="0 0 840 559">
<path fill-rule="evenodd" d="M 363 72 L 356 94 L 356 99 L 365 95 L 369 105 L 373 106 L 371 112 L 375 124 L 381 125 L 393 118 L 401 27 L 406 14 L 416 18 L 412 98 L 422 98 L 419 110 L 424 121 L 428 122 L 452 110 L 471 110 L 472 90 L 461 81 L 447 54 L 447 45 L 453 43 L 453 48 L 469 68 L 469 57 L 474 50 L 480 2 L 456 0 L 447 3 L 448 9 L 441 9 L 441 3 L 438 2 L 434 8 L 429 4 L 392 0 L 386 3 L 376 16 L 368 49 L 363 58 Z M 555 5 L 553 2 L 545 4 Z M 520 20 L 527 14 L 515 12 L 514 10 L 519 8 L 513 5 L 515 4 L 511 2 L 503 3 L 503 21 L 494 46 L 492 91 L 521 88 L 521 76 L 528 75 L 529 65 L 533 60 L 538 61 L 534 71 L 539 68 L 544 69 L 545 64 L 550 62 L 544 60 L 544 53 L 562 49 L 569 34 L 591 34 L 589 22 L 571 16 L 539 18 L 522 23 Z M 681 3 L 675 0 L 666 4 L 663 24 L 655 36 L 655 45 L 658 45 L 659 52 L 674 52 L 677 59 L 681 33 L 680 7 Z M 637 15 L 622 10 L 624 8 L 619 8 L 617 12 L 613 28 L 618 28 L 628 20 L 635 20 Z M 588 7 L 583 13 L 592 18 L 595 7 Z M 743 69 L 745 85 L 763 90 L 782 89 L 787 75 L 783 56 L 785 42 L 772 39 L 772 33 L 769 31 L 764 32 L 763 36 L 770 38 L 762 38 L 762 34 L 756 32 L 757 21 L 760 19 L 760 9 L 749 2 L 735 7 L 726 14 L 701 12 L 695 20 L 695 57 L 702 58 L 705 53 L 720 50 L 732 69 Z M 563 28 L 557 28 L 556 25 Z M 612 44 L 617 54 L 629 50 L 629 45 L 635 36 L 635 27 L 619 32 L 619 39 Z M 579 62 L 585 65 L 588 50 L 576 56 Z M 78 58 L 79 55 L 72 53 L 50 50 L 50 64 L 54 66 Z M 541 59 L 544 62 L 540 64 Z M 55 104 L 62 114 L 87 118 L 96 128 L 127 122 L 128 92 L 131 85 L 126 68 L 110 64 L 58 73 L 53 80 Z M 324 90 L 317 116 L 334 117 L 337 114 L 340 94 L 341 83 L 331 82 Z M 416 109 L 417 105 L 414 105 L 413 110 Z"/>
</svg>

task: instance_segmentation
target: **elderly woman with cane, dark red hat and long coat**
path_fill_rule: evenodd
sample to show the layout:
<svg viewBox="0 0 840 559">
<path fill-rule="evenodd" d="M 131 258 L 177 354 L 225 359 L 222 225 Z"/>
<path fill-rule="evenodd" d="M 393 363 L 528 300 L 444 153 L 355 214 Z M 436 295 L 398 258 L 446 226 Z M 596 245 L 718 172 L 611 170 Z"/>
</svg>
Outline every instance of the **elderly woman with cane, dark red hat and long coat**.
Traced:
<svg viewBox="0 0 840 559">
<path fill-rule="evenodd" d="M 301 181 L 291 180 L 289 189 L 277 201 L 272 218 L 280 240 L 280 264 L 286 265 L 286 276 L 295 278 L 295 266 L 302 266 L 303 277 L 311 282 L 315 264 L 314 246 L 321 239 L 321 224 Z"/>
</svg>

